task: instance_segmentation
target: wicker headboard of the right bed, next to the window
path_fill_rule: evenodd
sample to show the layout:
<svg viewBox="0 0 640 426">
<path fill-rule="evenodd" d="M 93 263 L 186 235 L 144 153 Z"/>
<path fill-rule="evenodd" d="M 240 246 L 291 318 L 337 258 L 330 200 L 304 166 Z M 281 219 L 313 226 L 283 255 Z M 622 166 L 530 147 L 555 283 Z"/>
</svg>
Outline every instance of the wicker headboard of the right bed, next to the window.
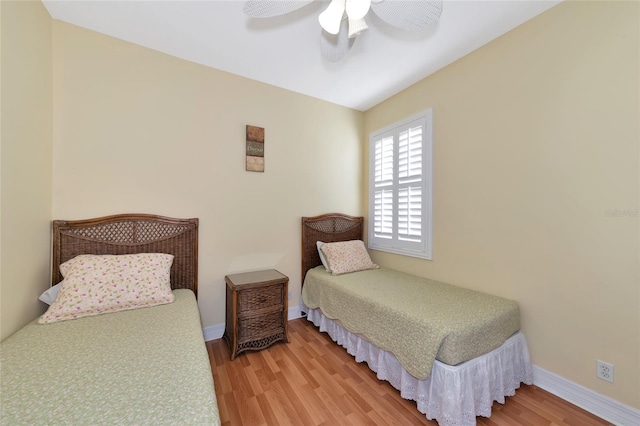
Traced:
<svg viewBox="0 0 640 426">
<path fill-rule="evenodd" d="M 315 217 L 302 218 L 302 281 L 309 269 L 322 264 L 316 247 L 317 241 L 333 243 L 336 241 L 361 240 L 364 218 L 347 216 L 340 213 L 328 213 Z"/>
</svg>

